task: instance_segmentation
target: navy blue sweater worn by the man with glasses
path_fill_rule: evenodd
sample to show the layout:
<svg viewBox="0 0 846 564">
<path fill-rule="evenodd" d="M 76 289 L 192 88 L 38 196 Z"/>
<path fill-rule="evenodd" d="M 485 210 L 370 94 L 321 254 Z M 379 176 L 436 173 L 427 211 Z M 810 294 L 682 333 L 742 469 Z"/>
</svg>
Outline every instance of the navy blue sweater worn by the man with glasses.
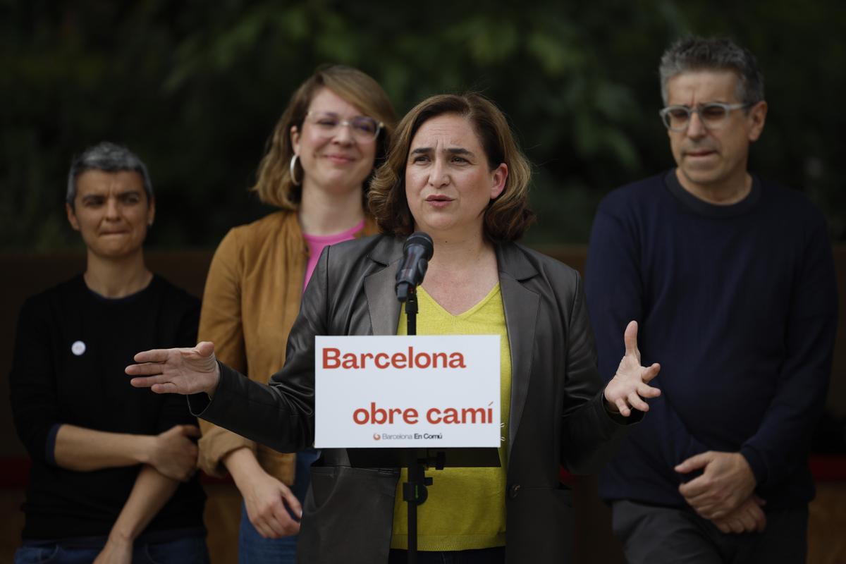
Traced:
<svg viewBox="0 0 846 564">
<path fill-rule="evenodd" d="M 734 205 L 685 191 L 674 171 L 613 191 L 586 276 L 602 377 L 640 323 L 662 396 L 603 471 L 600 495 L 684 507 L 673 467 L 741 452 L 766 508 L 814 496 L 808 444 L 825 401 L 837 293 L 825 221 L 803 194 L 755 178 Z"/>
</svg>

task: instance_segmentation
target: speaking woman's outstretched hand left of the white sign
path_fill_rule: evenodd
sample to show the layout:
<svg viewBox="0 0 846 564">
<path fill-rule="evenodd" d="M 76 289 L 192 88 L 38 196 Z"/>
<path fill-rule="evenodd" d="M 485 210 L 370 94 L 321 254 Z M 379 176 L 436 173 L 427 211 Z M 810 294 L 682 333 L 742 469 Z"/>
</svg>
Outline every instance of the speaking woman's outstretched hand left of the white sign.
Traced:
<svg viewBox="0 0 846 564">
<path fill-rule="evenodd" d="M 135 355 L 126 367 L 135 387 L 148 387 L 156 393 L 183 395 L 206 392 L 214 395 L 220 381 L 220 368 L 214 356 L 214 344 L 199 342 L 192 348 L 158 348 Z"/>
</svg>

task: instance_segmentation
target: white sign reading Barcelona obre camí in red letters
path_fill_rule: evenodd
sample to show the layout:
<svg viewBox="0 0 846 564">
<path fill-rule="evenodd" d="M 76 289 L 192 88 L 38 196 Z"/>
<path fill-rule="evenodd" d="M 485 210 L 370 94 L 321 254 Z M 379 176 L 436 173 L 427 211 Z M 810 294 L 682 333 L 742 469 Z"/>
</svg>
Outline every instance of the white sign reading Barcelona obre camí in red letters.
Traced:
<svg viewBox="0 0 846 564">
<path fill-rule="evenodd" d="M 315 446 L 500 446 L 499 336 L 316 337 Z"/>
</svg>

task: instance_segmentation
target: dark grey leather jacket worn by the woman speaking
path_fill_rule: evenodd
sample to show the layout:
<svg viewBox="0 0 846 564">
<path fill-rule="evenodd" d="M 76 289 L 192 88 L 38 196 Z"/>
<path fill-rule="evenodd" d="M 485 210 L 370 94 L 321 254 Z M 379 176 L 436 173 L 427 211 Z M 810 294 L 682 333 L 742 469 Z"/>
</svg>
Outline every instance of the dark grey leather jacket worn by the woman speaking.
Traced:
<svg viewBox="0 0 846 564">
<path fill-rule="evenodd" d="M 282 370 L 264 386 L 221 364 L 213 399 L 190 397 L 192 411 L 282 452 L 310 446 L 314 336 L 395 334 L 402 248 L 378 235 L 324 250 Z M 624 424 L 603 406 L 579 273 L 519 244 L 498 245 L 497 262 L 512 364 L 506 558 L 558 564 L 570 560 L 573 528 L 559 465 L 595 473 L 638 416 Z M 312 467 L 298 561 L 387 562 L 397 481 L 397 468 L 352 468 L 345 450 L 324 450 Z"/>
</svg>

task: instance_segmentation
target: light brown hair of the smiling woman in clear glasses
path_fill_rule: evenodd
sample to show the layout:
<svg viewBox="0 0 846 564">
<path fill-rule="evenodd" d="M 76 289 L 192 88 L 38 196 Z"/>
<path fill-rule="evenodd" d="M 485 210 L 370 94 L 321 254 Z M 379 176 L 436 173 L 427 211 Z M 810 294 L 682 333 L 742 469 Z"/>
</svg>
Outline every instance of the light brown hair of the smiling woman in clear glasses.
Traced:
<svg viewBox="0 0 846 564">
<path fill-rule="evenodd" d="M 376 80 L 357 68 L 339 64 L 317 68 L 315 74 L 305 80 L 294 92 L 294 96 L 291 96 L 288 107 L 267 140 L 265 156 L 261 158 L 255 186 L 250 188 L 259 194 L 259 200 L 265 204 L 292 211 L 299 207 L 302 189 L 294 184 L 290 173 L 290 161 L 294 156 L 291 128 L 296 126 L 299 131 L 302 130 L 309 104 L 322 88 L 332 90 L 350 104 L 359 107 L 365 115 L 383 123 L 382 131 L 376 140 L 374 169 L 385 160 L 387 146 L 397 123 L 397 115 L 393 112 L 385 90 L 382 90 Z M 296 168 L 296 176 L 302 181 L 303 169 L 299 162 Z M 365 201 L 368 181 L 365 181 Z"/>
</svg>

